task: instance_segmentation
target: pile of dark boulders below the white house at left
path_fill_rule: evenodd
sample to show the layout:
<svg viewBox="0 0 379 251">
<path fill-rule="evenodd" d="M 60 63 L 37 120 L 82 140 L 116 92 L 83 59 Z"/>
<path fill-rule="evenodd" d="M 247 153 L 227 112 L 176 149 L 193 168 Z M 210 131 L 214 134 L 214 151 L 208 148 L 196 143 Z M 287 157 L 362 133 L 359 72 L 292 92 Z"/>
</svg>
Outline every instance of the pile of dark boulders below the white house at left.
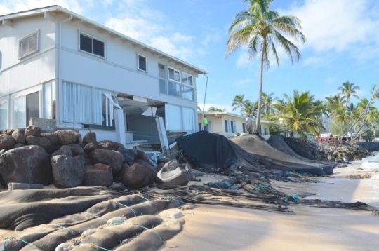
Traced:
<svg viewBox="0 0 379 251">
<path fill-rule="evenodd" d="M 74 186 L 111 186 L 121 182 L 138 189 L 157 176 L 149 157 L 95 133 L 74 130 L 44 133 L 37 126 L 0 131 L 0 188 L 8 182 Z"/>
</svg>

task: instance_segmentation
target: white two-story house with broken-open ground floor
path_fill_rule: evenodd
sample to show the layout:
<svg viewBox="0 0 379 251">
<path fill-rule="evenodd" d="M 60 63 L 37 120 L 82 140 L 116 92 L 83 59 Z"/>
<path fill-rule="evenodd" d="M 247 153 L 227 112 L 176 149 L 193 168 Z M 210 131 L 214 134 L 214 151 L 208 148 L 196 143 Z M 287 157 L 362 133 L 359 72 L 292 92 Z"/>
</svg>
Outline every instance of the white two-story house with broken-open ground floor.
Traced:
<svg viewBox="0 0 379 251">
<path fill-rule="evenodd" d="M 60 6 L 0 16 L 0 130 L 45 118 L 99 140 L 159 142 L 154 116 L 168 132 L 197 131 L 201 74 Z"/>
</svg>

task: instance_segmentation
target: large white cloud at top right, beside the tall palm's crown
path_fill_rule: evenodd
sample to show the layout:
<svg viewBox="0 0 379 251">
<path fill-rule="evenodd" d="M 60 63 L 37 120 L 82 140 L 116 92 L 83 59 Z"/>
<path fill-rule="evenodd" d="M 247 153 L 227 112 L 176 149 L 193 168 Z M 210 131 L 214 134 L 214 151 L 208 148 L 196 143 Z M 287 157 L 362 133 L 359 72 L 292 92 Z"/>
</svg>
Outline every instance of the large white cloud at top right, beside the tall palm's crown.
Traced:
<svg viewBox="0 0 379 251">
<path fill-rule="evenodd" d="M 307 46 L 321 53 L 351 52 L 364 45 L 378 47 L 378 11 L 379 6 L 370 0 L 305 0 L 286 14 L 300 18 Z"/>
</svg>

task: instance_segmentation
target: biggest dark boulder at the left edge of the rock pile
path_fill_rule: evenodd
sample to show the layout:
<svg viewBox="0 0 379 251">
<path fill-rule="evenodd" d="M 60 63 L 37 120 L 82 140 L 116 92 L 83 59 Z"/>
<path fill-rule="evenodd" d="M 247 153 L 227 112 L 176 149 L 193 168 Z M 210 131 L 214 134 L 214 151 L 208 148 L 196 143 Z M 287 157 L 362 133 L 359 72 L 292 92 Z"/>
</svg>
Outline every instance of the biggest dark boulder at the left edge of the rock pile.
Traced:
<svg viewBox="0 0 379 251">
<path fill-rule="evenodd" d="M 0 175 L 6 184 L 53 182 L 48 153 L 43 147 L 25 146 L 6 151 L 0 155 Z"/>
</svg>

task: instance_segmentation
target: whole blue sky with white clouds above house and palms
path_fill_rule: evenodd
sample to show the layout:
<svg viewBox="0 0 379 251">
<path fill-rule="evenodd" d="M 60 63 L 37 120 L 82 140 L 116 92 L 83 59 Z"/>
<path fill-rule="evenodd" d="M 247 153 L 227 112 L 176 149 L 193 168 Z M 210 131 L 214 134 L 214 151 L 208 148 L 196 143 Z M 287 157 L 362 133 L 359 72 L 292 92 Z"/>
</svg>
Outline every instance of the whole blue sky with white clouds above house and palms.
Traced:
<svg viewBox="0 0 379 251">
<path fill-rule="evenodd" d="M 259 60 L 245 48 L 225 58 L 227 29 L 244 9 L 242 0 L 0 0 L 0 15 L 59 4 L 179 57 L 208 72 L 206 108 L 231 111 L 235 95 L 258 97 Z M 264 72 L 263 90 L 282 97 L 310 90 L 317 99 L 338 92 L 349 80 L 368 97 L 379 75 L 379 1 L 274 0 L 272 9 L 302 21 L 307 43 L 302 59 L 292 65 L 284 53 Z M 199 105 L 205 78 L 197 80 Z M 201 105 L 200 105 L 201 106 Z"/>
</svg>

